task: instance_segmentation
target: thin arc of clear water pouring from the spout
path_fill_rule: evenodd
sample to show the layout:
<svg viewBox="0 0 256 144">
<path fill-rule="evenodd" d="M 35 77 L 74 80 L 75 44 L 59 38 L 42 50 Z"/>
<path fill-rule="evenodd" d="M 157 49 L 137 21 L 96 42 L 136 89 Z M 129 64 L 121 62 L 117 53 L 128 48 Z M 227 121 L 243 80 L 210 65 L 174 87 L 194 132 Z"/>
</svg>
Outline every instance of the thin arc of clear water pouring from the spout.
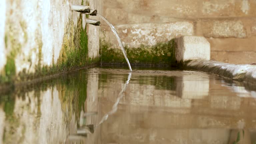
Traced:
<svg viewBox="0 0 256 144">
<path fill-rule="evenodd" d="M 125 57 L 125 60 L 126 60 L 128 66 L 129 66 L 129 70 L 130 70 L 130 72 L 132 72 L 132 68 L 131 68 L 130 62 L 129 62 L 128 58 L 127 58 L 127 54 L 126 54 L 126 52 L 125 52 L 123 43 L 122 43 L 120 37 L 118 36 L 118 33 L 117 33 L 115 27 L 114 27 L 105 17 L 103 17 L 103 16 L 100 15 L 100 14 L 97 14 L 97 15 L 98 15 L 100 18 L 102 18 L 102 19 L 109 25 L 109 27 L 111 28 L 111 30 L 112 30 L 113 33 L 115 34 L 115 36 L 116 36 L 116 38 L 117 38 L 117 41 L 118 41 L 118 44 L 119 44 L 119 46 L 121 47 L 122 52 L 123 52 L 124 57 Z"/>
</svg>

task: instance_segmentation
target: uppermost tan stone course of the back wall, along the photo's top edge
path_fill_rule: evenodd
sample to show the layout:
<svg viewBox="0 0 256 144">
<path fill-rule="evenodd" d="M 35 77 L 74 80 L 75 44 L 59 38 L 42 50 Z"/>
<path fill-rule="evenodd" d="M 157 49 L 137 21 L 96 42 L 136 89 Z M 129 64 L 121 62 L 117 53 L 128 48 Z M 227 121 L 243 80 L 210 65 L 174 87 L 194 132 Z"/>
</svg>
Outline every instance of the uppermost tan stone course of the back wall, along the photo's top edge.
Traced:
<svg viewBox="0 0 256 144">
<path fill-rule="evenodd" d="M 225 18 L 255 16 L 255 3 L 252 0 L 104 0 L 104 9 L 118 8 L 123 9 L 125 13 L 156 17 Z M 107 16 L 107 18 L 111 17 L 111 15 Z"/>
</svg>

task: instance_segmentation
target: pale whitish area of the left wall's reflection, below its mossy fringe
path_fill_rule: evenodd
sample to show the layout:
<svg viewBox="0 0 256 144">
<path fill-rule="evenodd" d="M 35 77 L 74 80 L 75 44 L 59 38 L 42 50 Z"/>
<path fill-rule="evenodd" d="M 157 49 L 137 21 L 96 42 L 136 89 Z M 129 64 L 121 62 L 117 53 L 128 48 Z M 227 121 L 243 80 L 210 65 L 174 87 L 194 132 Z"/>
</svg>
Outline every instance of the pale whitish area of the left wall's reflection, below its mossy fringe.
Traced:
<svg viewBox="0 0 256 144">
<path fill-rule="evenodd" d="M 13 115 L 7 117 L 4 128 L 4 143 L 65 142 L 68 123 L 56 87 L 42 91 L 39 97 L 35 91 L 16 96 Z"/>
</svg>

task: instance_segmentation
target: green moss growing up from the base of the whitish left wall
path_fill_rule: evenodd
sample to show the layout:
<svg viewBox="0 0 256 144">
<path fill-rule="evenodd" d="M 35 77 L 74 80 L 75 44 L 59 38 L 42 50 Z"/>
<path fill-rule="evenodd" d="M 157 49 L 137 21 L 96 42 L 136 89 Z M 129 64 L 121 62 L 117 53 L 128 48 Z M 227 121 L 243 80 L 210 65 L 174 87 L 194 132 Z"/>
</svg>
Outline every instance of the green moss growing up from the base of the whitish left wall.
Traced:
<svg viewBox="0 0 256 144">
<path fill-rule="evenodd" d="M 14 84 L 19 81 L 28 81 L 48 75 L 77 70 L 99 62 L 99 58 L 91 59 L 88 57 L 88 37 L 86 27 L 85 29 L 83 28 L 82 14 L 80 14 L 76 28 L 74 27 L 72 19 L 69 20 L 68 25 L 69 27 L 64 34 L 62 49 L 56 64 L 52 66 L 42 65 L 43 44 L 42 42 L 37 42 L 39 45 L 39 60 L 36 65 L 35 73 L 27 73 L 27 70 L 24 69 L 22 72 L 18 73 L 18 75 L 16 74 L 15 57 L 17 52 L 21 49 L 21 46 L 16 44 L 15 40 L 11 39 L 10 41 L 13 45 L 11 48 L 13 51 L 7 56 L 6 66 L 0 75 L 0 84 Z M 11 37 L 7 35 L 6 41 L 8 41 L 9 38 Z"/>
</svg>

